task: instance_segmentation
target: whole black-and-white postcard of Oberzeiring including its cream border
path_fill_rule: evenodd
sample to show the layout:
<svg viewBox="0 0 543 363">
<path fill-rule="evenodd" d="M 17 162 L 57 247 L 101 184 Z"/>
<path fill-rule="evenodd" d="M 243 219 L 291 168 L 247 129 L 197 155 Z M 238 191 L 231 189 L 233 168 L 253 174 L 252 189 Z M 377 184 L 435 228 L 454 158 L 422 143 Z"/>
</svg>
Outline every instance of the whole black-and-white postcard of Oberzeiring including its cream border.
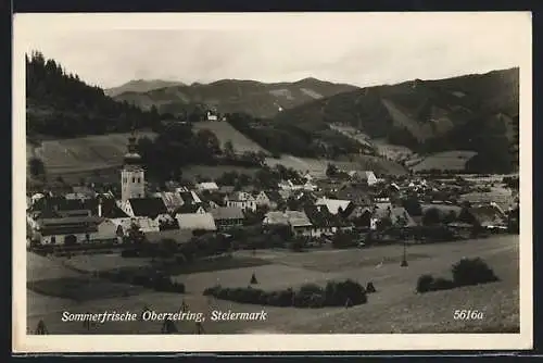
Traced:
<svg viewBox="0 0 543 363">
<path fill-rule="evenodd" d="M 18 349 L 531 347 L 529 12 L 13 24 Z"/>
</svg>

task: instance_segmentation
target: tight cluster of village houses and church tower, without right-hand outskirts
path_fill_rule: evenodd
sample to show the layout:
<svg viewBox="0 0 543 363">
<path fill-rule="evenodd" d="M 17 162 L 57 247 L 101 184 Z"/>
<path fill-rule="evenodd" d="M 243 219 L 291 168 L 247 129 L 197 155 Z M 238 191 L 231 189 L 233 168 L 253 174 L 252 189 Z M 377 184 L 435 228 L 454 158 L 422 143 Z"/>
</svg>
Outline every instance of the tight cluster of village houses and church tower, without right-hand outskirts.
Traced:
<svg viewBox="0 0 543 363">
<path fill-rule="evenodd" d="M 353 173 L 348 180 L 316 180 L 305 175 L 299 180 L 283 180 L 274 190 L 235 190 L 232 186 L 206 182 L 191 187 L 169 183 L 167 190 L 150 192 L 134 137 L 121 174 L 121 196 L 80 186 L 61 196 L 28 196 L 27 241 L 115 242 L 136 229 L 151 242 L 165 238 L 184 242 L 194 230 L 227 231 L 243 227 L 249 220 L 254 223 L 255 216 L 263 226 L 288 226 L 296 236 L 321 237 L 338 230 L 376 229 L 384 218 L 401 227 L 417 226 L 430 208 L 442 216 L 453 214 L 450 223 L 458 228 L 506 223 L 506 211 L 495 203 L 466 209 L 457 201 L 425 202 L 425 196 L 439 191 L 439 185 L 424 179 L 387 183 L 372 172 Z M 403 202 L 406 196 L 422 203 L 412 208 Z"/>
</svg>

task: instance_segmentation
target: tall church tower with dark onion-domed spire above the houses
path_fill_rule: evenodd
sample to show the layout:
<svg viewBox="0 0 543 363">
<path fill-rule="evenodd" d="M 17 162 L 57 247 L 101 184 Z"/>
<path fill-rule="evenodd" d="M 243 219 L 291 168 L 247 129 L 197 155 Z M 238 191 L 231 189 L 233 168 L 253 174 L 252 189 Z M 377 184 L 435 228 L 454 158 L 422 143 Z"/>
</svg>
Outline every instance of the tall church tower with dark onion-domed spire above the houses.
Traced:
<svg viewBox="0 0 543 363">
<path fill-rule="evenodd" d="M 125 154 L 124 166 L 121 171 L 121 199 L 126 202 L 131 198 L 146 197 L 146 179 L 141 157 L 138 154 L 136 136 L 132 133 L 128 138 L 128 152 Z"/>
</svg>

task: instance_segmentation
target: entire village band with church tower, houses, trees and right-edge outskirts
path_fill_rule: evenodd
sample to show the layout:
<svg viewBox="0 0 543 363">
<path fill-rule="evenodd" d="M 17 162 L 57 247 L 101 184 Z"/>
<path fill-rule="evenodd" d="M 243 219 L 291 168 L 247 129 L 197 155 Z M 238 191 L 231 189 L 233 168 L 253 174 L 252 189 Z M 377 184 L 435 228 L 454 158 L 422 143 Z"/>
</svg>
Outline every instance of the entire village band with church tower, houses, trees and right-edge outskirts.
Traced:
<svg viewBox="0 0 543 363">
<path fill-rule="evenodd" d="M 365 248 L 518 233 L 518 178 L 377 176 L 340 171 L 327 176 L 290 171 L 275 188 L 215 180 L 166 188 L 146 182 L 129 138 L 121 193 L 93 185 L 27 196 L 27 247 L 85 251 L 135 243 L 184 245 L 214 238 L 228 249 Z M 513 183 L 512 183 L 513 180 Z M 505 185 L 504 185 L 505 182 Z M 506 198 L 490 192 L 502 186 Z M 498 195 L 498 197 L 503 197 Z M 226 251 L 219 248 L 216 253 Z"/>
</svg>

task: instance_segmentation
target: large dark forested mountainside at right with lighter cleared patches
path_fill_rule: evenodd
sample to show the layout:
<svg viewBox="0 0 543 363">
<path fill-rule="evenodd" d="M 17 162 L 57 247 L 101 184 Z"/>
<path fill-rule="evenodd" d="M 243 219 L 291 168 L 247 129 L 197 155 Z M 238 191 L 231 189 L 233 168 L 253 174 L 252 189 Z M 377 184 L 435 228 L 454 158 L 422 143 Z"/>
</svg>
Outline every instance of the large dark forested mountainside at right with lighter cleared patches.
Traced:
<svg viewBox="0 0 543 363">
<path fill-rule="evenodd" d="M 507 173 L 518 167 L 518 107 L 519 70 L 510 68 L 368 87 L 285 110 L 275 122 L 350 125 L 420 154 L 470 150 L 478 157 L 468 168 Z"/>
</svg>

